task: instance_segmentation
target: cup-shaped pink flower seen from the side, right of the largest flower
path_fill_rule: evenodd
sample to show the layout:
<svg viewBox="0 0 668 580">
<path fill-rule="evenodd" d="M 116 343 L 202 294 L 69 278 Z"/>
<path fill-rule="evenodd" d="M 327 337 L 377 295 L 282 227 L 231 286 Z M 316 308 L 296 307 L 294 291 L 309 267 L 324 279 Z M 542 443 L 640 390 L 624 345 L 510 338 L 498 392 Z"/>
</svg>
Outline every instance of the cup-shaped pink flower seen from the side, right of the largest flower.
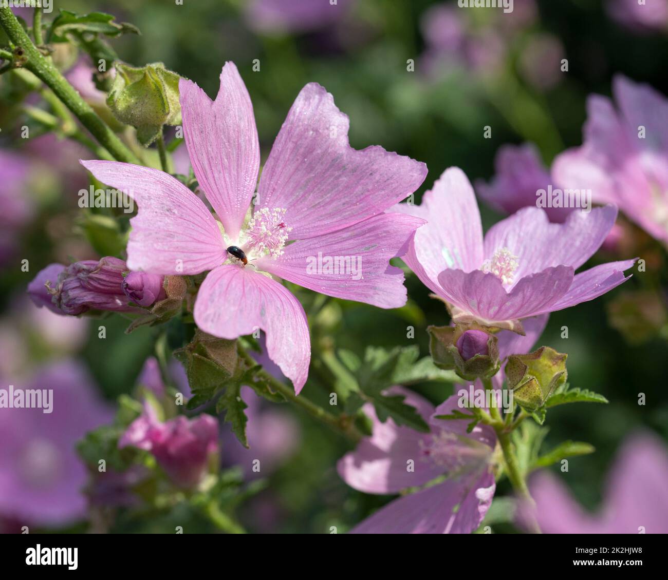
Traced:
<svg viewBox="0 0 668 580">
<path fill-rule="evenodd" d="M 615 224 L 614 206 L 572 212 L 564 224 L 550 224 L 540 208 L 524 208 L 483 239 L 473 188 L 459 168 L 446 170 L 421 206 L 393 210 L 429 219 L 403 260 L 448 304 L 454 322 L 521 333 L 523 318 L 587 302 L 619 286 L 635 261 L 574 274 Z"/>
</svg>

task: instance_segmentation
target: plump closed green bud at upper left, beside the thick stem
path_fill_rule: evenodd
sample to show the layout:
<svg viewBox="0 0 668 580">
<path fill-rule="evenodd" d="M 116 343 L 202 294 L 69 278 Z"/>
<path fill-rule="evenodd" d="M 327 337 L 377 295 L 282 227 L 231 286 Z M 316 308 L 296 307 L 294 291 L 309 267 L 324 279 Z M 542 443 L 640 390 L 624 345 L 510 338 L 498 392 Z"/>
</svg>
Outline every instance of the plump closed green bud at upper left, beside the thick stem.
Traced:
<svg viewBox="0 0 668 580">
<path fill-rule="evenodd" d="M 162 63 L 144 67 L 116 63 L 114 67 L 116 77 L 107 105 L 119 121 L 137 129 L 144 147 L 156 139 L 162 125 L 180 125 L 179 75 Z"/>
</svg>

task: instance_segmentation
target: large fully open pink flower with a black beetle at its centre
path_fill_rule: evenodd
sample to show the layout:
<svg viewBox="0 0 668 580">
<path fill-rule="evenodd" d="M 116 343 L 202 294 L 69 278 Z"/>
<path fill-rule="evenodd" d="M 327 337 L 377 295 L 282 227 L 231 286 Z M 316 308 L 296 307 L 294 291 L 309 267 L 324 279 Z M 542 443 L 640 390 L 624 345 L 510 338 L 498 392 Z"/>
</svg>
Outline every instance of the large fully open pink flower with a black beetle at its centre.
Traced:
<svg viewBox="0 0 668 580">
<path fill-rule="evenodd" d="M 405 251 L 424 220 L 385 210 L 414 192 L 427 168 L 381 147 L 351 148 L 348 117 L 323 87 L 309 83 L 281 127 L 251 213 L 260 147 L 236 67 L 223 67 L 215 101 L 192 81 L 179 88 L 190 162 L 220 221 L 164 172 L 81 163 L 101 182 L 132 192 L 138 204 L 128 266 L 162 275 L 210 270 L 194 306 L 197 326 L 230 340 L 261 328 L 270 358 L 299 392 L 311 358 L 306 315 L 274 277 L 381 308 L 405 304 L 403 273 L 388 261 Z M 248 265 L 226 252 L 230 246 L 244 252 Z M 321 268 L 321 258 L 333 256 L 361 271 Z"/>
</svg>

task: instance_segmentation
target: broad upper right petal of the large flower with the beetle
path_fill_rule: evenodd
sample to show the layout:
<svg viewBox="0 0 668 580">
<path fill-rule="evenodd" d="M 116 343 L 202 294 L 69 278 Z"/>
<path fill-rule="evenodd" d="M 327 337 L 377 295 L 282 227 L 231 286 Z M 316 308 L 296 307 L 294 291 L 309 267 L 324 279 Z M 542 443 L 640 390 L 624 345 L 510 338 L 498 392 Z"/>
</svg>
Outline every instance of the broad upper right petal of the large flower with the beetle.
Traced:
<svg viewBox="0 0 668 580">
<path fill-rule="evenodd" d="M 427 167 L 378 146 L 348 143 L 349 119 L 317 83 L 288 113 L 262 172 L 259 208 L 284 208 L 291 239 L 335 232 L 380 214 L 413 193 Z"/>
</svg>

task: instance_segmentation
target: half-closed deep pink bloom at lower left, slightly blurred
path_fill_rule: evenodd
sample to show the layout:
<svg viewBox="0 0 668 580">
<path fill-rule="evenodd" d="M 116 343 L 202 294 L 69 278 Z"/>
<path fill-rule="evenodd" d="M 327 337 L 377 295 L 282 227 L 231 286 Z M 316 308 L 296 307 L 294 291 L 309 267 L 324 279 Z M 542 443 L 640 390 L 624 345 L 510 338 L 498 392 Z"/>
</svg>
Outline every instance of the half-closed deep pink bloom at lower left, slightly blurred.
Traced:
<svg viewBox="0 0 668 580">
<path fill-rule="evenodd" d="M 118 447 L 149 451 L 174 484 L 192 488 L 206 475 L 209 458 L 218 451 L 218 421 L 201 414 L 194 419 L 179 415 L 160 422 L 150 403 L 118 441 Z"/>
</svg>

